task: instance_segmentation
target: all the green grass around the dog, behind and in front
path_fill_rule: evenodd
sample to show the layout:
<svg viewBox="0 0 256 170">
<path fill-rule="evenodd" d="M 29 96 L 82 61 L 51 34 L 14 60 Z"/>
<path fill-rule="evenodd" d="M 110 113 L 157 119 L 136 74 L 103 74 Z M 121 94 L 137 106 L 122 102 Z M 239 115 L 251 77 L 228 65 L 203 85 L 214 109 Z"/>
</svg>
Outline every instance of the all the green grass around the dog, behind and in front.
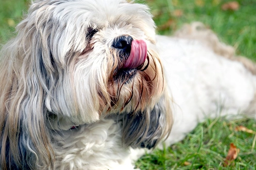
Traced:
<svg viewBox="0 0 256 170">
<path fill-rule="evenodd" d="M 0 43 L 13 36 L 15 25 L 30 0 L 0 0 Z M 223 11 L 229 0 L 146 0 L 152 7 L 159 34 L 171 34 L 184 23 L 201 21 L 223 42 L 234 46 L 238 55 L 256 61 L 256 0 L 237 0 L 237 11 Z M 164 150 L 155 150 L 136 162 L 141 170 L 255 170 L 256 134 L 237 132 L 243 125 L 256 131 L 256 121 L 208 119 L 188 136 Z M 223 167 L 230 143 L 240 149 L 238 157 Z"/>
</svg>

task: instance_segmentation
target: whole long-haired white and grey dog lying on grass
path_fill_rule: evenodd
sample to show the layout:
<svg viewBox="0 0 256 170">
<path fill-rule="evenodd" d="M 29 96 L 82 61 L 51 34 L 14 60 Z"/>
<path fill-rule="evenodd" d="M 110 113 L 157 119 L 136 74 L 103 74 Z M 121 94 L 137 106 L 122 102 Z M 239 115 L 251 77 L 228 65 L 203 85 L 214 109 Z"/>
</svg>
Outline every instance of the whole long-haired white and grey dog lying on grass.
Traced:
<svg viewBox="0 0 256 170">
<path fill-rule="evenodd" d="M 37 0 L 0 54 L 1 170 L 133 170 L 206 118 L 255 118 L 256 76 L 201 23 L 145 4 Z"/>
</svg>

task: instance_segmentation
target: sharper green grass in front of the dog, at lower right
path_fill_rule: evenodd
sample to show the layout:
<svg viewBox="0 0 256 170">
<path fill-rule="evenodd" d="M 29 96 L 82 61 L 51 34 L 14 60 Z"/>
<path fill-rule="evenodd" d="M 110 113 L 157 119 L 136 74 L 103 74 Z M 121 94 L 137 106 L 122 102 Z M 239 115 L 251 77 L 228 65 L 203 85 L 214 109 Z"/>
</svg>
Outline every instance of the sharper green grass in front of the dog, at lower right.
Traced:
<svg viewBox="0 0 256 170">
<path fill-rule="evenodd" d="M 181 142 L 141 157 L 136 166 L 141 170 L 255 170 L 256 135 L 235 131 L 239 125 L 256 129 L 253 119 L 208 119 Z M 223 167 L 231 143 L 240 152 L 230 166 Z"/>
</svg>

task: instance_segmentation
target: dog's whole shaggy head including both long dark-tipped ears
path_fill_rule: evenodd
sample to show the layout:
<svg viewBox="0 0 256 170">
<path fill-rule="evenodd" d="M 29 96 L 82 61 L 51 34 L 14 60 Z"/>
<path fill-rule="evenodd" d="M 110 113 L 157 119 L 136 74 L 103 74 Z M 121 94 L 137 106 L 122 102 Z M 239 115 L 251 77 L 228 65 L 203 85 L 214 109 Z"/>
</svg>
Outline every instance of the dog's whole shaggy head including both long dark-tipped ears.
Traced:
<svg viewBox="0 0 256 170">
<path fill-rule="evenodd" d="M 154 147 L 171 129 L 154 36 L 146 5 L 33 3 L 1 53 L 1 168 L 52 166 L 51 130 L 113 114 L 125 146 Z"/>
</svg>

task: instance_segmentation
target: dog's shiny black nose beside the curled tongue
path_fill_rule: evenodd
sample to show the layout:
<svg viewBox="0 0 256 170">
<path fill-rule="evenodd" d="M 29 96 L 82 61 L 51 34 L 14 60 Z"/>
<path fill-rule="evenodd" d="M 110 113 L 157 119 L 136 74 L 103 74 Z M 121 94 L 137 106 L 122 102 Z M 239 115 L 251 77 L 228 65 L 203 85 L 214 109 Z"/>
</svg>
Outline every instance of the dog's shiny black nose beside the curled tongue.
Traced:
<svg viewBox="0 0 256 170">
<path fill-rule="evenodd" d="M 114 39 L 112 46 L 116 49 L 122 50 L 125 53 L 130 53 L 132 40 L 133 37 L 129 35 L 122 35 Z"/>
</svg>

